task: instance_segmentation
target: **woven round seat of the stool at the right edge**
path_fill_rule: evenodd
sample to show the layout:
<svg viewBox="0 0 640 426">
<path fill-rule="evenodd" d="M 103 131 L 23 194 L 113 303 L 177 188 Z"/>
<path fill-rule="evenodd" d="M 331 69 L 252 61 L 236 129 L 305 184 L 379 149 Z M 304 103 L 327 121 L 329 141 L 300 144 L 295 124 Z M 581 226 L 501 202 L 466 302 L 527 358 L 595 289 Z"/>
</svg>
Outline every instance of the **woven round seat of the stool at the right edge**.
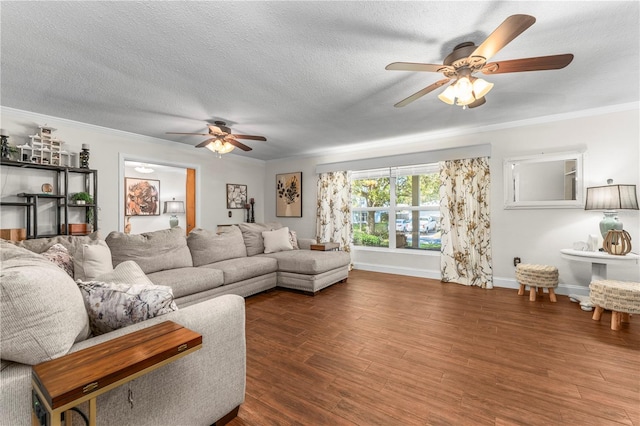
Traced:
<svg viewBox="0 0 640 426">
<path fill-rule="evenodd" d="M 589 285 L 591 303 L 604 309 L 640 314 L 640 283 L 598 280 Z"/>
</svg>

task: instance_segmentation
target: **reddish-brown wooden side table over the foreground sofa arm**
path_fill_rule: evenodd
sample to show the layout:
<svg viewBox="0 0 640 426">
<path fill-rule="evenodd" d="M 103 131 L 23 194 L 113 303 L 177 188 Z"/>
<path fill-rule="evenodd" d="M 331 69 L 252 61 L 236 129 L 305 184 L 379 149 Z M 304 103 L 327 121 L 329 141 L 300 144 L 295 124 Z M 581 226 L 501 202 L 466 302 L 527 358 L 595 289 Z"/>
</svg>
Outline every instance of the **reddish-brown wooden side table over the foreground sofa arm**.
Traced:
<svg viewBox="0 0 640 426">
<path fill-rule="evenodd" d="M 60 426 L 63 412 L 89 401 L 89 425 L 95 426 L 99 395 L 201 347 L 200 334 L 165 321 L 35 365 L 33 424 Z"/>
</svg>

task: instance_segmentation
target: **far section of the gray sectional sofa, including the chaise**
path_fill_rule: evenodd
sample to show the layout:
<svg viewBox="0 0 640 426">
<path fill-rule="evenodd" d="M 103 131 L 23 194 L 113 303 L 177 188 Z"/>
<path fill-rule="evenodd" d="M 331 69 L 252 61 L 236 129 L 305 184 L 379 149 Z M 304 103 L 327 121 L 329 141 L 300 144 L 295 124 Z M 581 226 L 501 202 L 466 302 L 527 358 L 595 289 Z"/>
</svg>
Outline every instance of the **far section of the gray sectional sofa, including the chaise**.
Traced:
<svg viewBox="0 0 640 426">
<path fill-rule="evenodd" d="M 241 223 L 216 232 L 194 229 L 185 237 L 176 227 L 139 235 L 112 232 L 105 241 L 113 266 L 136 261 L 154 284 L 173 289 L 180 307 L 276 286 L 314 294 L 347 279 L 349 253 L 309 250 L 311 239 L 297 239 L 298 249 L 265 253 L 262 233 L 282 229 L 279 223 Z"/>
</svg>

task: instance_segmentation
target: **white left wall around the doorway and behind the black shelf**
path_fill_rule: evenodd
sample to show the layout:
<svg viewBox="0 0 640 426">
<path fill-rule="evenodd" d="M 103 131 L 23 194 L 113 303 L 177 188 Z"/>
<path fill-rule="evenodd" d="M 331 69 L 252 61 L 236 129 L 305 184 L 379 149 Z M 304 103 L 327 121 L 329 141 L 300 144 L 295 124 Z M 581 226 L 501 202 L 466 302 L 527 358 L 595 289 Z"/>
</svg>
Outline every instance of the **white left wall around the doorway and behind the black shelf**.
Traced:
<svg viewBox="0 0 640 426">
<path fill-rule="evenodd" d="M 41 114 L 35 114 L 11 108 L 2 107 L 0 125 L 12 135 L 11 145 L 23 144 L 28 140 L 27 135 L 33 134 L 38 125 L 47 124 L 58 131 L 58 138 L 67 142 L 69 149 L 79 151 L 83 143 L 91 147 L 89 165 L 98 170 L 98 228 L 103 236 L 115 230 L 123 230 L 124 224 L 119 213 L 122 198 L 121 177 L 124 167 L 120 156 L 142 160 L 148 163 L 174 164 L 181 167 L 196 169 L 196 225 L 212 229 L 218 224 L 239 223 L 244 220 L 243 210 L 232 210 L 232 217 L 227 216 L 226 184 L 238 183 L 248 186 L 249 196 L 256 199 L 256 221 L 263 221 L 263 161 L 253 160 L 240 155 L 227 154 L 216 158 L 206 149 L 196 149 L 191 145 L 154 139 L 146 136 L 106 129 L 84 123 L 60 119 Z M 133 118 L 132 118 L 133 119 Z M 0 176 L 0 197 L 15 195 L 22 187 L 19 179 L 12 177 L 14 168 L 3 167 Z M 122 175 L 122 176 L 121 176 Z M 34 184 L 40 188 L 41 178 L 36 178 Z M 13 224 L 3 209 L 2 227 L 24 227 L 24 224 Z M 169 227 L 169 220 L 166 220 Z M 136 228 L 133 228 L 136 233 Z"/>
</svg>

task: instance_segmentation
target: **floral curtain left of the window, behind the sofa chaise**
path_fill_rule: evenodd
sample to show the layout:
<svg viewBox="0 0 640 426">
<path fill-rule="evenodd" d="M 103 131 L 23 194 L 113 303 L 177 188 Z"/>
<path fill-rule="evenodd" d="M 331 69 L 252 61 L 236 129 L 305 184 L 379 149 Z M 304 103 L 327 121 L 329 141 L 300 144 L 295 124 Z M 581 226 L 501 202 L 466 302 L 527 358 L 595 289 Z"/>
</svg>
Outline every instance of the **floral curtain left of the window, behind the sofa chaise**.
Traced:
<svg viewBox="0 0 640 426">
<path fill-rule="evenodd" d="M 349 172 L 321 173 L 318 177 L 316 219 L 318 242 L 340 243 L 342 250 L 351 245 L 351 183 Z"/>
</svg>

